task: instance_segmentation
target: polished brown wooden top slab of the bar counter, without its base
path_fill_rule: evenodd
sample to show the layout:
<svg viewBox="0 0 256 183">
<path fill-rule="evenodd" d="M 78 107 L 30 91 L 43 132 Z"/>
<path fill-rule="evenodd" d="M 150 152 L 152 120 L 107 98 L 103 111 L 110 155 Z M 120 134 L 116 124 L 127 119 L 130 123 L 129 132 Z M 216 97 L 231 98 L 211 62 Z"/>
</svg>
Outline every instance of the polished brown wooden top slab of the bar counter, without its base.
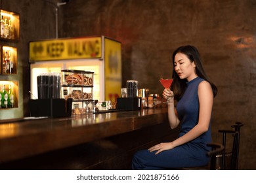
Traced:
<svg viewBox="0 0 256 183">
<path fill-rule="evenodd" d="M 167 122 L 167 108 L 0 123 L 0 163 Z"/>
</svg>

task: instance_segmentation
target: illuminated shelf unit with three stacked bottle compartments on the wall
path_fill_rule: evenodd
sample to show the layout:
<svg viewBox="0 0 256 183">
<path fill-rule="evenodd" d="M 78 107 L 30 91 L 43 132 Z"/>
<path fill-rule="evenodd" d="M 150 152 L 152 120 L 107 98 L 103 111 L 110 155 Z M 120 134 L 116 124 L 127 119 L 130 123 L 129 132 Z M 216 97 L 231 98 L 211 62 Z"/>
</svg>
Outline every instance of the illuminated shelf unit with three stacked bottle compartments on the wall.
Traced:
<svg viewBox="0 0 256 183">
<path fill-rule="evenodd" d="M 9 86 L 11 86 L 13 93 L 12 97 L 9 97 L 7 106 L 2 105 L 0 108 L 0 123 L 1 120 L 9 120 L 12 118 L 22 118 L 23 108 L 19 98 L 22 76 L 18 76 L 18 51 L 15 44 L 20 41 L 20 14 L 10 12 L 7 10 L 0 10 L 0 90 L 9 92 Z M 9 95 L 10 96 L 10 95 Z M 2 98 L 2 96 L 1 96 Z M 13 101 L 13 103 L 12 103 Z"/>
</svg>

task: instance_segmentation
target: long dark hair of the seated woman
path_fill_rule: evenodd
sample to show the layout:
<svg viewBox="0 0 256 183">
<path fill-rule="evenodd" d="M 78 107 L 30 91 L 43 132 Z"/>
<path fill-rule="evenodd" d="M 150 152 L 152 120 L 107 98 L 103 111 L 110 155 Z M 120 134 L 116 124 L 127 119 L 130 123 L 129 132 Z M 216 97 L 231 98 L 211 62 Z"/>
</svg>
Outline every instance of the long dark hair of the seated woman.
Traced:
<svg viewBox="0 0 256 183">
<path fill-rule="evenodd" d="M 196 47 L 194 46 L 186 45 L 177 48 L 177 50 L 173 52 L 173 84 L 171 85 L 171 90 L 173 90 L 173 93 L 175 94 L 175 99 L 177 99 L 177 101 L 181 99 L 182 95 L 186 90 L 187 82 L 186 79 L 181 79 L 175 71 L 174 61 L 177 53 L 185 54 L 187 58 L 190 59 L 190 62 L 194 61 L 196 65 L 196 75 L 198 75 L 200 78 L 203 78 L 204 80 L 209 82 L 209 84 L 211 84 L 213 96 L 215 97 L 218 92 L 217 87 L 215 86 L 215 84 L 213 84 L 213 82 L 209 80 L 209 77 L 206 75 L 203 68 L 202 58 L 200 57 L 198 49 L 196 49 Z"/>
</svg>

